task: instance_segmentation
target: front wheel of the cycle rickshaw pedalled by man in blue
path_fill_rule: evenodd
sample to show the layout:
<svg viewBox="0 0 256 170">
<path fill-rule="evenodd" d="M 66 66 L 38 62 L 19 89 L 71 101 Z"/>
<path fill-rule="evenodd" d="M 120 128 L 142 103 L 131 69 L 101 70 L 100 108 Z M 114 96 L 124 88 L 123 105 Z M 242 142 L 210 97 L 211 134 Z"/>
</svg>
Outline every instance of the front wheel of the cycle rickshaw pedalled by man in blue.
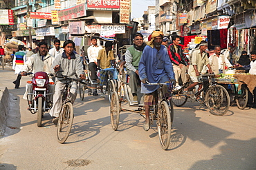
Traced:
<svg viewBox="0 0 256 170">
<path fill-rule="evenodd" d="M 169 106 L 166 101 L 162 101 L 160 108 L 158 108 L 158 136 L 161 142 L 161 147 L 166 150 L 170 145 L 171 130 L 172 130 L 172 116 L 170 114 Z"/>
</svg>

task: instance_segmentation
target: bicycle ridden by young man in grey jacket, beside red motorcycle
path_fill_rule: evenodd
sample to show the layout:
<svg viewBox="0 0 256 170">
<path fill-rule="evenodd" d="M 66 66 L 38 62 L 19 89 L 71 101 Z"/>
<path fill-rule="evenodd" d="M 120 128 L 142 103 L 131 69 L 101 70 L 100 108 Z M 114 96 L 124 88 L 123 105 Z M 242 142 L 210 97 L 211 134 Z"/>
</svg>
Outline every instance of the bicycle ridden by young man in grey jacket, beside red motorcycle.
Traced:
<svg viewBox="0 0 256 170">
<path fill-rule="evenodd" d="M 65 88 L 62 93 L 62 109 L 60 111 L 59 120 L 57 123 L 57 139 L 58 142 L 64 143 L 70 134 L 72 125 L 73 125 L 73 118 L 74 118 L 74 111 L 73 111 L 73 104 L 71 103 L 71 83 L 73 81 L 80 81 L 79 79 L 69 78 L 67 76 L 58 76 L 59 78 L 64 78 L 66 80 Z"/>
</svg>

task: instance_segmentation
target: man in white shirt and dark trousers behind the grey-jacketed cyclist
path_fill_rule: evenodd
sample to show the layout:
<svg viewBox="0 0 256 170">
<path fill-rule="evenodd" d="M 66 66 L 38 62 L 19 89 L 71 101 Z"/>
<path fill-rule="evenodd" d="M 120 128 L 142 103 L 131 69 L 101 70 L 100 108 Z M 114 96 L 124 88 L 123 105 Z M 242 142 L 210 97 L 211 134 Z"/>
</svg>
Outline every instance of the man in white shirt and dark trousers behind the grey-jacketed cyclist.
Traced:
<svg viewBox="0 0 256 170">
<path fill-rule="evenodd" d="M 89 58 L 89 70 L 91 72 L 91 80 L 96 83 L 98 76 L 96 75 L 97 70 L 97 57 L 102 46 L 97 44 L 97 39 L 95 36 L 91 37 L 91 46 L 87 49 L 87 54 Z M 91 95 L 91 89 L 88 89 L 88 95 Z M 97 89 L 94 89 L 93 96 L 98 96 Z"/>
</svg>

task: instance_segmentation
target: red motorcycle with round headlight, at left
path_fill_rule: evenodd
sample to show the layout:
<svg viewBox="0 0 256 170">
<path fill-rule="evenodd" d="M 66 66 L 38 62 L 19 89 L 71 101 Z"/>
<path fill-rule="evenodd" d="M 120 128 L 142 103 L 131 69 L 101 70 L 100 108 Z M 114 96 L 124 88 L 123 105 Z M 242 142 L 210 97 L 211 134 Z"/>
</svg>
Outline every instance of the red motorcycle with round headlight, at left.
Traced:
<svg viewBox="0 0 256 170">
<path fill-rule="evenodd" d="M 28 73 L 28 75 L 32 75 L 33 73 Z M 28 81 L 27 83 L 33 85 L 33 93 L 27 94 L 28 96 L 32 96 L 33 98 L 33 106 L 30 107 L 31 114 L 37 113 L 37 127 L 42 126 L 42 118 L 44 117 L 44 112 L 51 109 L 53 103 L 49 101 L 50 94 L 48 90 L 48 85 L 54 85 L 54 82 L 50 81 L 48 76 L 53 76 L 53 74 L 47 74 L 46 72 L 36 72 L 33 74 L 32 81 Z M 28 103 L 29 105 L 29 103 Z"/>
</svg>

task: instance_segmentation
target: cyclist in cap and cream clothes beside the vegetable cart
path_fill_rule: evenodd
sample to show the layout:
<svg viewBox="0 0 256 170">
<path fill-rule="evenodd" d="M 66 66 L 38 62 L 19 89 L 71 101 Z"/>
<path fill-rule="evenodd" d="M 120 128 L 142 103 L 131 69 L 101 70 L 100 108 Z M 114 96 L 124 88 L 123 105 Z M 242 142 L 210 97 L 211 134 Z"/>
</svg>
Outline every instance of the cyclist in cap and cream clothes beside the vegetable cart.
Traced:
<svg viewBox="0 0 256 170">
<path fill-rule="evenodd" d="M 208 43 L 206 41 L 201 41 L 201 43 L 199 44 L 199 47 L 192 52 L 192 55 L 191 55 L 192 59 L 190 59 L 191 63 L 190 63 L 190 67 L 188 68 L 188 74 L 190 75 L 190 78 L 193 83 L 184 89 L 184 92 L 187 95 L 189 95 L 188 94 L 189 89 L 199 84 L 198 77 L 201 74 L 201 71 L 203 70 L 204 65 L 208 67 L 209 73 L 212 74 L 210 63 L 209 63 L 207 54 L 205 52 L 207 47 L 208 47 Z M 202 86 L 203 86 L 202 84 L 199 84 L 198 90 L 200 90 Z M 199 100 L 200 98 L 197 98 L 197 99 Z"/>
</svg>

